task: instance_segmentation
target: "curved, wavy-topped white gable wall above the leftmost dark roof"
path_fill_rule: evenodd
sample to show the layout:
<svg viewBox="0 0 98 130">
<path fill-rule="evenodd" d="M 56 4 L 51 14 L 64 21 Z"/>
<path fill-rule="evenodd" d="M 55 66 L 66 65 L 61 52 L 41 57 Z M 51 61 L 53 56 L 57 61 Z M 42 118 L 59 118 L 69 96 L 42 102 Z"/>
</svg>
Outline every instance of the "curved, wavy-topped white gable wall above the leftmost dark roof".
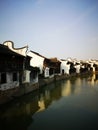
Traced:
<svg viewBox="0 0 98 130">
<path fill-rule="evenodd" d="M 4 42 L 4 45 L 8 46 L 8 48 L 20 55 L 23 55 L 23 56 L 26 56 L 26 52 L 27 52 L 27 49 L 28 49 L 28 46 L 25 46 L 23 48 L 13 48 L 12 47 L 12 42 L 11 41 L 7 41 L 7 42 Z"/>
</svg>

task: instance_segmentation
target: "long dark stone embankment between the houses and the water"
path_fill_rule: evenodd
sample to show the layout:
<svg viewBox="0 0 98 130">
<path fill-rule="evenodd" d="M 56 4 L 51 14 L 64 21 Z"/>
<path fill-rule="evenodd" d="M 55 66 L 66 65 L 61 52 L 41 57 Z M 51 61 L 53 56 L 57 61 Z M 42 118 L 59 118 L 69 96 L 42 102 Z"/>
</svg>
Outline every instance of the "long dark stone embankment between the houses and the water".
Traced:
<svg viewBox="0 0 98 130">
<path fill-rule="evenodd" d="M 33 91 L 38 90 L 39 88 L 51 84 L 56 81 L 60 80 L 66 80 L 70 79 L 73 77 L 79 77 L 79 76 L 84 76 L 84 75 L 92 75 L 92 72 L 86 72 L 82 74 L 71 74 L 71 75 L 55 75 L 54 77 L 51 78 L 42 78 L 39 79 L 39 83 L 36 84 L 29 84 L 25 83 L 23 85 L 20 85 L 17 88 L 11 89 L 11 90 L 6 90 L 6 91 L 1 91 L 0 92 L 0 105 L 8 103 L 10 101 L 14 101 L 14 99 L 19 98 L 23 95 L 29 94 Z"/>
</svg>

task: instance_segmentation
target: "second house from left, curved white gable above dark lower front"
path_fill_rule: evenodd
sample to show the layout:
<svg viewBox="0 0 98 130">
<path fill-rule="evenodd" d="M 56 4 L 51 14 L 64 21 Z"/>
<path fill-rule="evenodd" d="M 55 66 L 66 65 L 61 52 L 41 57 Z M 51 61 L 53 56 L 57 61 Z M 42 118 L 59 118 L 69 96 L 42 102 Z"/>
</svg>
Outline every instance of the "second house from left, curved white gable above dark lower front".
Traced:
<svg viewBox="0 0 98 130">
<path fill-rule="evenodd" d="M 12 52 L 24 57 L 20 76 L 21 83 L 38 83 L 38 68 L 30 66 L 31 57 L 27 56 L 28 46 L 14 48 L 14 43 L 12 41 L 5 41 L 3 45 L 8 47 Z"/>
</svg>

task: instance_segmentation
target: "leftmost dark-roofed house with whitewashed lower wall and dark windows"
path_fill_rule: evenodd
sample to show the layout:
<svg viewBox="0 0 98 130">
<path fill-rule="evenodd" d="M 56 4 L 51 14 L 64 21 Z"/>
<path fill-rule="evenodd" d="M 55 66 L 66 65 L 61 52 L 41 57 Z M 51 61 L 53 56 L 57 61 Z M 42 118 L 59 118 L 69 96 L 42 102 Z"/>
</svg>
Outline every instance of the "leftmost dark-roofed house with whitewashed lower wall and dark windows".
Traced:
<svg viewBox="0 0 98 130">
<path fill-rule="evenodd" d="M 19 87 L 25 56 L 17 54 L 0 44 L 0 90 Z"/>
</svg>

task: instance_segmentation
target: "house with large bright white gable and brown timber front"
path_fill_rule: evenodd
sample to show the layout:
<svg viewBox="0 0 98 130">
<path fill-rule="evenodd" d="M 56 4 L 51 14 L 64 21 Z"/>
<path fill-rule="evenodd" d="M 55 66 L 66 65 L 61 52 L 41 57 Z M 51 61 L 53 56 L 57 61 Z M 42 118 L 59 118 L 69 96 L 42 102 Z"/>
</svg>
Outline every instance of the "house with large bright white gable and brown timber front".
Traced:
<svg viewBox="0 0 98 130">
<path fill-rule="evenodd" d="M 39 67 L 40 77 L 53 77 L 55 74 L 60 74 L 60 61 L 57 58 L 46 58 L 37 52 L 30 51 L 27 54 L 31 56 L 31 66 Z"/>
</svg>

